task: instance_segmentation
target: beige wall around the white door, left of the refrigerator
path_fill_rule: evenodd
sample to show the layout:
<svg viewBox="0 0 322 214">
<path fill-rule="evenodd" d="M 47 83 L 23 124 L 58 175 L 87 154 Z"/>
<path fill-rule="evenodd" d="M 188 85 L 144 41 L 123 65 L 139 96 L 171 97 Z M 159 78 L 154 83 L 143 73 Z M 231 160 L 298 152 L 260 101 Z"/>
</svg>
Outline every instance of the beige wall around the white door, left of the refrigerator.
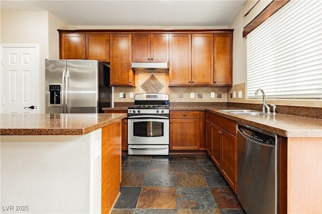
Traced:
<svg viewBox="0 0 322 214">
<path fill-rule="evenodd" d="M 45 112 L 45 59 L 59 58 L 60 28 L 67 25 L 48 11 L 1 12 L 1 44 L 39 44 L 39 113 Z"/>
</svg>

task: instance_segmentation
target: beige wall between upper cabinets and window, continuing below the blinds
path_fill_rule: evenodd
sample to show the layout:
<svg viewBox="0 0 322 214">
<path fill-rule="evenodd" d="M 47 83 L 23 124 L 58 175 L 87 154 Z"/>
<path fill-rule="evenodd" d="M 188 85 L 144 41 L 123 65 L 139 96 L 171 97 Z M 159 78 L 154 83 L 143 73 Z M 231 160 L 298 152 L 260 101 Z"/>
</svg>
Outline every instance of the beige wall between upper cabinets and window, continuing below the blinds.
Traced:
<svg viewBox="0 0 322 214">
<path fill-rule="evenodd" d="M 228 29 L 233 31 L 233 86 L 228 88 L 227 101 L 239 103 L 258 103 L 261 104 L 261 98 L 247 99 L 245 97 L 246 78 L 247 78 L 247 46 L 246 38 L 243 38 L 243 10 L 236 15 L 228 25 Z M 230 93 L 236 92 L 236 98 L 230 98 Z M 242 91 L 243 97 L 238 98 L 238 91 Z M 265 91 L 265 90 L 264 90 Z M 254 91 L 255 93 L 255 91 Z M 322 100 L 318 99 L 266 99 L 267 103 L 276 105 L 291 106 L 310 106 L 322 108 Z"/>
</svg>

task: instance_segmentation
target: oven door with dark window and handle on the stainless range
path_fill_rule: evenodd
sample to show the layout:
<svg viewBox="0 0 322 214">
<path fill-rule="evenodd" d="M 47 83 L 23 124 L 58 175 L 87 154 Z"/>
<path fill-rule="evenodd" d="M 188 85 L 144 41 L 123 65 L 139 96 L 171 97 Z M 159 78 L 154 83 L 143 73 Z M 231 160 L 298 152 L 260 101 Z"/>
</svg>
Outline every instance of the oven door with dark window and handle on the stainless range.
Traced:
<svg viewBox="0 0 322 214">
<path fill-rule="evenodd" d="M 164 116 L 128 117 L 128 144 L 169 145 L 169 118 Z"/>
</svg>

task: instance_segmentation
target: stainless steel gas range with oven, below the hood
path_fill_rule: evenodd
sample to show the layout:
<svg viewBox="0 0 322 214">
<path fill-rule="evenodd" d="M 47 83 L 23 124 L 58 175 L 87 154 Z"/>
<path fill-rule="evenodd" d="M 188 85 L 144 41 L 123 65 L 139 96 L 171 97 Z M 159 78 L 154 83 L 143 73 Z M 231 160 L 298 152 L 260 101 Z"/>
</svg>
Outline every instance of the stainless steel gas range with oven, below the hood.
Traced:
<svg viewBox="0 0 322 214">
<path fill-rule="evenodd" d="M 128 154 L 169 155 L 169 94 L 135 94 L 127 111 Z"/>
</svg>

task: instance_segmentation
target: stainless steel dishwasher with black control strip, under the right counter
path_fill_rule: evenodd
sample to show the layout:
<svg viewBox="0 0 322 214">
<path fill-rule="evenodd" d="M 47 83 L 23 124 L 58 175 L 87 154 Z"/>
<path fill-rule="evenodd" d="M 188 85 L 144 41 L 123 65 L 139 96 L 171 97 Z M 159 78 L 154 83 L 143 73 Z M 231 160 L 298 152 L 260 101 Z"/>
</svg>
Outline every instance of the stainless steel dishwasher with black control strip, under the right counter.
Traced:
<svg viewBox="0 0 322 214">
<path fill-rule="evenodd" d="M 238 123 L 237 197 L 247 214 L 277 213 L 277 135 Z"/>
</svg>

